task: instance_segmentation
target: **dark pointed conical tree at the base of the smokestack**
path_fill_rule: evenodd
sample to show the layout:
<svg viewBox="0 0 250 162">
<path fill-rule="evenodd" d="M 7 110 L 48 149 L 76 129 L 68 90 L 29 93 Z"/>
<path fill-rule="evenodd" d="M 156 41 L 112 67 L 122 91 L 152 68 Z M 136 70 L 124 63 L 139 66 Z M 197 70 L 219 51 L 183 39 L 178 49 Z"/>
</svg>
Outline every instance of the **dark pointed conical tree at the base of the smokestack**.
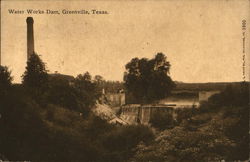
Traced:
<svg viewBox="0 0 250 162">
<path fill-rule="evenodd" d="M 26 71 L 22 76 L 23 84 L 30 88 L 45 88 L 48 84 L 47 72 L 44 62 L 36 53 L 33 53 L 27 62 Z"/>
</svg>

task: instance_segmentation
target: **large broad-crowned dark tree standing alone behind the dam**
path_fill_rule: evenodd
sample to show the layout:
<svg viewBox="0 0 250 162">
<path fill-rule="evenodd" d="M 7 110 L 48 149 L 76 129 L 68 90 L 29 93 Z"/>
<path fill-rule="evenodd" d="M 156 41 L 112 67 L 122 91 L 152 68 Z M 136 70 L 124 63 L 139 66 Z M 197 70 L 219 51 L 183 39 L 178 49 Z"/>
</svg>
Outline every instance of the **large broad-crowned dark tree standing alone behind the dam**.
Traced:
<svg viewBox="0 0 250 162">
<path fill-rule="evenodd" d="M 125 88 L 137 102 L 150 103 L 165 98 L 175 87 L 169 76 L 170 63 L 163 53 L 157 53 L 150 60 L 133 58 L 125 67 Z"/>
</svg>

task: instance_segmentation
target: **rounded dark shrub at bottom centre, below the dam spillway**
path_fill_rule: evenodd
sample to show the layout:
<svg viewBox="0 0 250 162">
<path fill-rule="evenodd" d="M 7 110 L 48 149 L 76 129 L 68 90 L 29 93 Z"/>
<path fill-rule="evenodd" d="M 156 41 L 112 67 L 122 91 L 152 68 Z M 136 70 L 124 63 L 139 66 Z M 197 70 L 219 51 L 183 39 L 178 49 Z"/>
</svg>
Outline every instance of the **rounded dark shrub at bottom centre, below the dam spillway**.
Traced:
<svg viewBox="0 0 250 162">
<path fill-rule="evenodd" d="M 134 154 L 135 147 L 154 139 L 152 130 L 143 125 L 121 126 L 107 132 L 102 141 L 107 150 L 106 161 L 126 161 Z M 105 160 L 104 160 L 105 161 Z"/>
</svg>

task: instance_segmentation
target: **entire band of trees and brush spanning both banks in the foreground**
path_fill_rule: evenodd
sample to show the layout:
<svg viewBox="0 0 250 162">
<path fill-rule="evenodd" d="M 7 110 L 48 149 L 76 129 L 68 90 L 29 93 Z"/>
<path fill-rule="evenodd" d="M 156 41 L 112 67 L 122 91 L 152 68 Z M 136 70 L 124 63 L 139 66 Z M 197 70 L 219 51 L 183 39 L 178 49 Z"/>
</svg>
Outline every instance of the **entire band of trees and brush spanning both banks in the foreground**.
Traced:
<svg viewBox="0 0 250 162">
<path fill-rule="evenodd" d="M 100 77 L 84 73 L 66 82 L 50 77 L 37 55 L 30 58 L 19 85 L 0 67 L 0 160 L 248 159 L 249 83 L 227 87 L 200 109 L 175 110 L 176 118 L 156 114 L 153 131 L 143 125 L 111 125 L 92 113 Z"/>
</svg>

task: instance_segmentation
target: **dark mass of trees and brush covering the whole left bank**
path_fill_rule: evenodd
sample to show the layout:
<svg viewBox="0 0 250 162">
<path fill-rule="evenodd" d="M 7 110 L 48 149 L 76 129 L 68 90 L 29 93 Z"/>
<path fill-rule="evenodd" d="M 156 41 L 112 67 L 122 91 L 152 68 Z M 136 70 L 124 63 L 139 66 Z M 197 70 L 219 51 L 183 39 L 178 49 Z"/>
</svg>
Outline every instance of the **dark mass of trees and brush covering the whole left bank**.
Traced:
<svg viewBox="0 0 250 162">
<path fill-rule="evenodd" d="M 102 87 L 88 72 L 49 75 L 33 54 L 22 84 L 11 80 L 1 66 L 0 160 L 123 161 L 154 138 L 146 126 L 115 126 L 93 114 Z"/>
</svg>

